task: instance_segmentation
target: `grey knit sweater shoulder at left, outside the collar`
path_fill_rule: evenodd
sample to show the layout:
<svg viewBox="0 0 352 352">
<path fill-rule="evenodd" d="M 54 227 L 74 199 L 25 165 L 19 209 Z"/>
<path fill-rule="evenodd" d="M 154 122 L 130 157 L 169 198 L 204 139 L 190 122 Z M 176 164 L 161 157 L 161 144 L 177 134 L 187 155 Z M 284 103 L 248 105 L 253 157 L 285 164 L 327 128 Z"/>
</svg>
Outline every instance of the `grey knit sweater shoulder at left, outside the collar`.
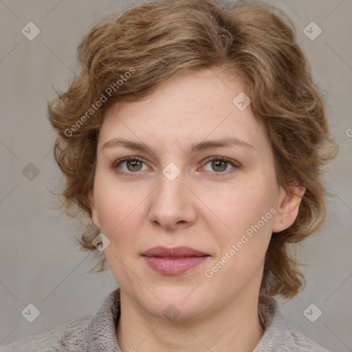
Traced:
<svg viewBox="0 0 352 352">
<path fill-rule="evenodd" d="M 85 331 L 90 317 L 68 322 L 50 332 L 21 338 L 0 347 L 0 352 L 58 352 L 83 351 Z"/>
</svg>

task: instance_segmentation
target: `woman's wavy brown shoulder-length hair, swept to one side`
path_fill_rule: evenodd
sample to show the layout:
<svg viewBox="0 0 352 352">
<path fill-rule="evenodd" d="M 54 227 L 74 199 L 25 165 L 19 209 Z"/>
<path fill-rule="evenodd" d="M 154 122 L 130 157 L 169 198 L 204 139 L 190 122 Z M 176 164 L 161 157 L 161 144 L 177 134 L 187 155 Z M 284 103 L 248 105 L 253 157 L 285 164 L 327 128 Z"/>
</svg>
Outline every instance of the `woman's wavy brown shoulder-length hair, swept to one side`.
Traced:
<svg viewBox="0 0 352 352">
<path fill-rule="evenodd" d="M 77 56 L 80 74 L 67 91 L 56 91 L 48 118 L 57 133 L 54 157 L 65 177 L 58 208 L 89 221 L 78 243 L 95 253 L 97 272 L 106 259 L 92 244 L 99 230 L 89 219 L 87 195 L 94 187 L 104 111 L 114 102 L 146 98 L 178 72 L 221 67 L 245 83 L 251 109 L 272 144 L 278 185 L 306 188 L 294 224 L 272 234 L 261 282 L 261 294 L 294 297 L 305 278 L 292 244 L 325 223 L 331 194 L 321 169 L 338 146 L 292 21 L 261 1 L 153 0 L 100 19 Z"/>
</svg>

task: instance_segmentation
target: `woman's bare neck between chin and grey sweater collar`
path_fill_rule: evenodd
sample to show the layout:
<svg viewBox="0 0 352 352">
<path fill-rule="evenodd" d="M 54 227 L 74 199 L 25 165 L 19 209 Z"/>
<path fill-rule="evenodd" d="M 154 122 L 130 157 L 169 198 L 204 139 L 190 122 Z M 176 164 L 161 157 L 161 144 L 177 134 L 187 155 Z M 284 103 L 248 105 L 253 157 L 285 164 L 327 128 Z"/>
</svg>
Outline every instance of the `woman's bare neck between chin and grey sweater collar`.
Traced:
<svg viewBox="0 0 352 352">
<path fill-rule="evenodd" d="M 121 291 L 121 316 L 116 329 L 122 351 L 252 352 L 263 336 L 258 298 L 239 297 L 232 305 L 200 320 L 170 322 L 140 314 Z"/>
</svg>

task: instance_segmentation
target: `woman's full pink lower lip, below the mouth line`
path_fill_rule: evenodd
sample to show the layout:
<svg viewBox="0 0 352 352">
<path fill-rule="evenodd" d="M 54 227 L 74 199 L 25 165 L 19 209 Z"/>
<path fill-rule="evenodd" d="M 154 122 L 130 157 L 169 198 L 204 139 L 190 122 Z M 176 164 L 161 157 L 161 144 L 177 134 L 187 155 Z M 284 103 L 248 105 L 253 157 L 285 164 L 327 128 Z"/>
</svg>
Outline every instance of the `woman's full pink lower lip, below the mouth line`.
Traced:
<svg viewBox="0 0 352 352">
<path fill-rule="evenodd" d="M 166 259 L 158 256 L 144 256 L 146 263 L 162 274 L 177 275 L 203 263 L 209 256 L 187 256 L 186 258 Z"/>
</svg>

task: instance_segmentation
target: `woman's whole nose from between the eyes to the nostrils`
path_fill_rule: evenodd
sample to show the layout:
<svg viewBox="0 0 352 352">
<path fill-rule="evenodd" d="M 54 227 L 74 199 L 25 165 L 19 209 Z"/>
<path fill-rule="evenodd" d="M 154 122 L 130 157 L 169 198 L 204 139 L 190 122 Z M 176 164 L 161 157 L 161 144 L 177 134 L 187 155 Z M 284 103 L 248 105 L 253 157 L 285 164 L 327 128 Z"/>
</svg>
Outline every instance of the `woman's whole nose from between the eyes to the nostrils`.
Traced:
<svg viewBox="0 0 352 352">
<path fill-rule="evenodd" d="M 159 182 L 149 212 L 150 220 L 165 228 L 195 221 L 195 205 L 184 184 L 187 182 L 185 173 L 170 163 L 162 171 Z"/>
</svg>

